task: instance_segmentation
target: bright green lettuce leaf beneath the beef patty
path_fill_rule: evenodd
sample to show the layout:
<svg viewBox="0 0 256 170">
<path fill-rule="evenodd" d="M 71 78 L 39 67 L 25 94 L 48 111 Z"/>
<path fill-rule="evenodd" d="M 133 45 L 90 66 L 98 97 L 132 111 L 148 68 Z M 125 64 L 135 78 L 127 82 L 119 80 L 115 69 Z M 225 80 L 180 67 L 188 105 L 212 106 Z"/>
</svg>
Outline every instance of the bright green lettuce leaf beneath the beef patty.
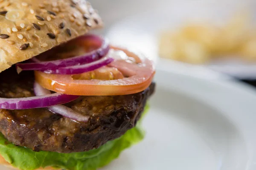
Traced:
<svg viewBox="0 0 256 170">
<path fill-rule="evenodd" d="M 144 113 L 148 110 L 146 106 Z M 144 131 L 139 121 L 136 127 L 123 136 L 103 146 L 79 153 L 34 152 L 26 147 L 15 146 L 0 133 L 0 155 L 20 170 L 35 170 L 39 167 L 56 167 L 65 170 L 96 170 L 116 159 L 122 150 L 140 142 Z"/>
</svg>

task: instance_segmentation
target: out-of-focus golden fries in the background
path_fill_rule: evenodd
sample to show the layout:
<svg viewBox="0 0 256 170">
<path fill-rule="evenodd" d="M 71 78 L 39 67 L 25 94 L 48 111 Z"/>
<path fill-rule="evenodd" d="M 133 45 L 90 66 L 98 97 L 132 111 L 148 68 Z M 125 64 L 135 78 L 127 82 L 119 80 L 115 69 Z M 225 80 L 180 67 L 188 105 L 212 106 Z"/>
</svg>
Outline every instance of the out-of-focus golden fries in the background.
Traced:
<svg viewBox="0 0 256 170">
<path fill-rule="evenodd" d="M 256 31 L 249 14 L 238 14 L 223 26 L 187 23 L 177 31 L 163 31 L 160 57 L 204 64 L 219 57 L 236 56 L 256 61 Z"/>
</svg>

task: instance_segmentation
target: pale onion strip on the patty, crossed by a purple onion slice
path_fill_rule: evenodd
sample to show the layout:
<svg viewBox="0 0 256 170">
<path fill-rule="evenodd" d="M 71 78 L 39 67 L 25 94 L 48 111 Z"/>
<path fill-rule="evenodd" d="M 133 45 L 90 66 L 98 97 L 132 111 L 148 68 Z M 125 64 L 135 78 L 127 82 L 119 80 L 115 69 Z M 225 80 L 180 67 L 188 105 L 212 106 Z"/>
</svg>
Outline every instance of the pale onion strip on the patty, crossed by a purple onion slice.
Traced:
<svg viewBox="0 0 256 170">
<path fill-rule="evenodd" d="M 51 92 L 45 88 L 43 88 L 41 85 L 39 85 L 37 82 L 34 84 L 34 91 L 36 96 L 44 96 L 49 95 Z M 55 105 L 55 106 L 49 106 L 47 107 L 49 111 L 52 111 L 53 113 L 58 113 L 64 117 L 80 121 L 80 122 L 88 122 L 89 116 L 81 115 L 81 113 L 74 111 L 71 108 L 68 108 L 64 105 Z"/>
</svg>

